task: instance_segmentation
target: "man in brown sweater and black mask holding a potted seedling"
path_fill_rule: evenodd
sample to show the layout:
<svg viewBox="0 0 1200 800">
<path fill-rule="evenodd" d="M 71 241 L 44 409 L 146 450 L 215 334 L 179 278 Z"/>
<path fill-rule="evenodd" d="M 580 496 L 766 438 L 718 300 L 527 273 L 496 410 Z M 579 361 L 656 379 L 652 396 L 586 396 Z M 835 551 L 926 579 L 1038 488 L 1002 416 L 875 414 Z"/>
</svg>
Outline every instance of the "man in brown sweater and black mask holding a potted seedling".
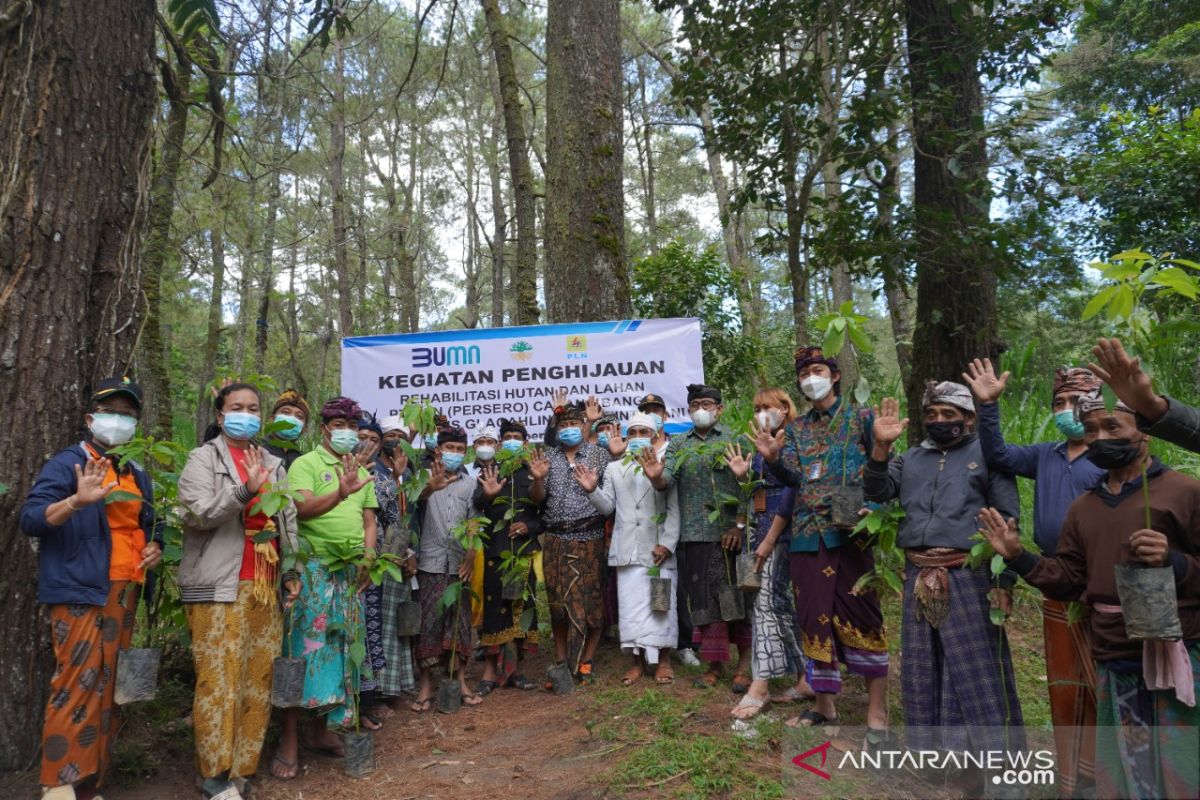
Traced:
<svg viewBox="0 0 1200 800">
<path fill-rule="evenodd" d="M 1200 481 L 1150 455 L 1129 407 L 1109 410 L 1096 391 L 1076 410 L 1087 458 L 1104 471 L 1067 511 L 1055 554 L 1025 551 L 1016 522 L 994 509 L 980 523 L 1026 582 L 1091 606 L 1076 624 L 1096 668 L 1096 796 L 1200 796 Z M 1128 564 L 1170 567 L 1181 639 L 1129 638 L 1116 584 Z"/>
</svg>

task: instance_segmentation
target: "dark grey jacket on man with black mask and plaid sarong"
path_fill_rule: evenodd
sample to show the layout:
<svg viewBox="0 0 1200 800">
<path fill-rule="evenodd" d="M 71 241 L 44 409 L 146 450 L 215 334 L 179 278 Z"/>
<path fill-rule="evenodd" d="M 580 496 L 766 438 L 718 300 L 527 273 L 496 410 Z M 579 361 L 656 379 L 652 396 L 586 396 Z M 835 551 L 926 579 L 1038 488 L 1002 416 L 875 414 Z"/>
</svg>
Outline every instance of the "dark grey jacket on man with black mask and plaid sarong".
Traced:
<svg viewBox="0 0 1200 800">
<path fill-rule="evenodd" d="M 872 503 L 900 498 L 905 518 L 896 547 L 952 547 L 968 551 L 985 506 L 1020 518 L 1016 479 L 989 470 L 974 434 L 944 453 L 925 440 L 889 462 L 868 461 L 863 495 Z"/>
</svg>

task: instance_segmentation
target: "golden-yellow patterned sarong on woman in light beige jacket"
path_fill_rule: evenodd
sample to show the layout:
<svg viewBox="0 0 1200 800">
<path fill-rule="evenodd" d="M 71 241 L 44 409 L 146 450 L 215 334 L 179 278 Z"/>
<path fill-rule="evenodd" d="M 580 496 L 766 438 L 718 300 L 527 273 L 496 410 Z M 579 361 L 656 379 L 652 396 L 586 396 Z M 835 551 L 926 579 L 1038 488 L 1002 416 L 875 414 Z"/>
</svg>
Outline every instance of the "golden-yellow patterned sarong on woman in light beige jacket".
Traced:
<svg viewBox="0 0 1200 800">
<path fill-rule="evenodd" d="M 186 603 L 196 663 L 196 764 L 200 777 L 248 777 L 258 769 L 271 718 L 271 662 L 283 620 L 275 593 L 263 603 L 254 583 L 238 583 L 232 603 Z"/>
</svg>

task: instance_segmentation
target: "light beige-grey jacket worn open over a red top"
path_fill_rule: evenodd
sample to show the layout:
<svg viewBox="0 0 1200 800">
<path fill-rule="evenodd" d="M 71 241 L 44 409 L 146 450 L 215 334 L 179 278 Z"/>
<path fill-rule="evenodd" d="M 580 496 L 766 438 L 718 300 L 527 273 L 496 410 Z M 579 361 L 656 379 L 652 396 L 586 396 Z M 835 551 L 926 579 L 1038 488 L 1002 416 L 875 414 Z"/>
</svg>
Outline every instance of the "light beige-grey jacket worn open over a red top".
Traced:
<svg viewBox="0 0 1200 800">
<path fill-rule="evenodd" d="M 270 482 L 286 485 L 283 461 L 263 450 Z M 253 500 L 229 455 L 224 437 L 208 441 L 187 455 L 179 475 L 179 505 L 184 518 L 184 558 L 179 564 L 179 590 L 185 603 L 238 600 L 238 575 L 245 553 L 242 512 Z M 294 553 L 296 510 L 290 503 L 274 517 L 280 547 Z"/>
</svg>

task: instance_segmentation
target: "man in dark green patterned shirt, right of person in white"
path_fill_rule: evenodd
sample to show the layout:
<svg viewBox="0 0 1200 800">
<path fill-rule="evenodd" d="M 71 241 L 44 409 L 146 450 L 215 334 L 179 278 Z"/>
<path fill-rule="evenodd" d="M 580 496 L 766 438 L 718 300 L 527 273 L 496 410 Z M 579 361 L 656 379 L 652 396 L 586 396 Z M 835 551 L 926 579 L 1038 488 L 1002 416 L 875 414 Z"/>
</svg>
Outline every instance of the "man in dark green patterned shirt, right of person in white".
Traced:
<svg viewBox="0 0 1200 800">
<path fill-rule="evenodd" d="M 700 644 L 700 658 L 708 663 L 695 682 L 702 688 L 716 686 L 734 644 L 738 663 L 732 688 L 740 694 L 750 686 L 750 625 L 745 619 L 722 619 L 719 595 L 721 587 L 732 582 L 728 565 L 742 548 L 745 517 L 737 506 L 722 501 L 725 495 L 738 497 L 738 481 L 722 463 L 734 440 L 719 423 L 722 408 L 720 390 L 689 385 L 692 429 L 671 437 L 662 474 L 647 477 L 659 491 L 674 486 L 679 497 L 679 582 L 691 612 L 692 643 Z M 680 459 L 685 451 L 692 457 Z M 716 517 L 709 521 L 713 511 Z"/>
</svg>

